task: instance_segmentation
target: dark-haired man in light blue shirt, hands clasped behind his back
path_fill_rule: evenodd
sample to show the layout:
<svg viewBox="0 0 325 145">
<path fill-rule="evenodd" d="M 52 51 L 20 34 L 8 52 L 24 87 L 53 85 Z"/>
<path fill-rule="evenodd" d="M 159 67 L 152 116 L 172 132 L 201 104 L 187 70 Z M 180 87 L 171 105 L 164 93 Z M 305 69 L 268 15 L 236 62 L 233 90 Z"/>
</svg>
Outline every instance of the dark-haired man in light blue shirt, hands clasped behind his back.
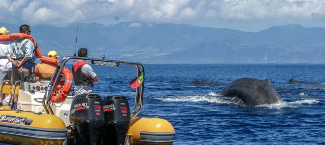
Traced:
<svg viewBox="0 0 325 145">
<path fill-rule="evenodd" d="M 19 27 L 20 33 L 30 35 L 30 26 L 23 24 Z M 7 57 L 12 62 L 12 83 L 20 81 L 23 77 L 35 76 L 34 69 L 36 58 L 34 54 L 35 46 L 29 39 L 14 40 L 9 46 Z M 14 95 L 12 109 L 17 108 L 18 95 Z"/>
</svg>

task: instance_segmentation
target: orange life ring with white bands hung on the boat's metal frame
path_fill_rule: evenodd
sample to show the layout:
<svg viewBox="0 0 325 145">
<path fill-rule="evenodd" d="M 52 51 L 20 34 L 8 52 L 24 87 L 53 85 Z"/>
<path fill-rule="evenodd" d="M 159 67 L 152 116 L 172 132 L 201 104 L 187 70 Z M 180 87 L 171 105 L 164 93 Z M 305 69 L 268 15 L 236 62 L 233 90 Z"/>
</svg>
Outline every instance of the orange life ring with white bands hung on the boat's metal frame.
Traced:
<svg viewBox="0 0 325 145">
<path fill-rule="evenodd" d="M 50 98 L 50 100 L 54 103 L 60 103 L 66 100 L 72 88 L 73 77 L 71 71 L 68 68 L 63 67 L 60 74 L 64 75 L 64 82 L 62 79 L 60 79 L 60 81 L 55 84 L 53 93 Z M 53 82 L 51 82 L 51 85 L 53 85 Z"/>
</svg>

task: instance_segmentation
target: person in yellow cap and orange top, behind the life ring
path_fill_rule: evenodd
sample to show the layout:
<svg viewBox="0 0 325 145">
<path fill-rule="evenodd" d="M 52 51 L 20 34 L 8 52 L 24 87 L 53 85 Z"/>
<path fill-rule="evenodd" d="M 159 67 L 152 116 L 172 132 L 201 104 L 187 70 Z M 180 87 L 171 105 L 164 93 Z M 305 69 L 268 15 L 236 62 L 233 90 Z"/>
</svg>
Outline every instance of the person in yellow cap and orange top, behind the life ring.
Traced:
<svg viewBox="0 0 325 145">
<path fill-rule="evenodd" d="M 49 51 L 47 53 L 48 57 L 57 59 L 59 57 L 55 50 Z M 35 66 L 36 76 L 40 77 L 41 81 L 50 80 L 54 74 L 56 65 L 50 63 L 39 63 Z"/>
</svg>

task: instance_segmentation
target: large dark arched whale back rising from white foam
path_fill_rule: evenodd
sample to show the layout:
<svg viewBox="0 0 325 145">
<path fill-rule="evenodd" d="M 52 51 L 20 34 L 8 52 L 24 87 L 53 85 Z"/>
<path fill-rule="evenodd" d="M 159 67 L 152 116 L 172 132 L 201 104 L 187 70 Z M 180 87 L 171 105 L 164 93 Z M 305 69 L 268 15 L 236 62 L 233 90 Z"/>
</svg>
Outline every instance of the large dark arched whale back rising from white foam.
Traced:
<svg viewBox="0 0 325 145">
<path fill-rule="evenodd" d="M 242 99 L 246 107 L 271 104 L 282 100 L 268 79 L 241 78 L 222 89 L 221 95 Z"/>
</svg>

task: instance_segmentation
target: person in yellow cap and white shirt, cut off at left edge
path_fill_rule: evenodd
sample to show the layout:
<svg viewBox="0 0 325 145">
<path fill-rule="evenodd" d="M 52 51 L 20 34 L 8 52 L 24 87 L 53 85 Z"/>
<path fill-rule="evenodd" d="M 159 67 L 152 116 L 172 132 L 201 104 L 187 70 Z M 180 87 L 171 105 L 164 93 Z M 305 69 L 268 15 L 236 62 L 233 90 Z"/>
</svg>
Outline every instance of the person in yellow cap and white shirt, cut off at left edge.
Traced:
<svg viewBox="0 0 325 145">
<path fill-rule="evenodd" d="M 0 28 L 0 35 L 7 35 L 8 30 L 5 27 Z M 5 80 L 11 80 L 11 66 L 12 63 L 7 58 L 7 49 L 11 41 L 0 41 L 0 83 L 3 85 Z M 8 82 L 5 85 L 9 85 Z M 0 96 L 2 97 L 2 96 Z M 0 99 L 1 100 L 1 99 Z M 4 99 L 0 102 L 3 105 L 8 105 L 10 101 L 10 95 L 5 95 Z"/>
</svg>

